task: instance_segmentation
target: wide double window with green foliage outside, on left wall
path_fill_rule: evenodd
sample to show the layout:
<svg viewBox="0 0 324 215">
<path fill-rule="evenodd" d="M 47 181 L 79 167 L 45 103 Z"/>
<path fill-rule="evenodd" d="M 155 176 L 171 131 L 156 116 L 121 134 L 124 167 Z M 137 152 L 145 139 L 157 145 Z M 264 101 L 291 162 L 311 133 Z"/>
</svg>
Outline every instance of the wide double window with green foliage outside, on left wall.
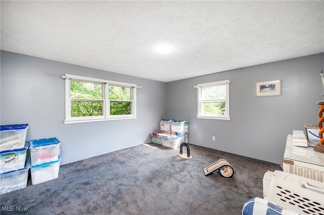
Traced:
<svg viewBox="0 0 324 215">
<path fill-rule="evenodd" d="M 136 85 L 65 75 L 65 121 L 136 119 Z"/>
</svg>

